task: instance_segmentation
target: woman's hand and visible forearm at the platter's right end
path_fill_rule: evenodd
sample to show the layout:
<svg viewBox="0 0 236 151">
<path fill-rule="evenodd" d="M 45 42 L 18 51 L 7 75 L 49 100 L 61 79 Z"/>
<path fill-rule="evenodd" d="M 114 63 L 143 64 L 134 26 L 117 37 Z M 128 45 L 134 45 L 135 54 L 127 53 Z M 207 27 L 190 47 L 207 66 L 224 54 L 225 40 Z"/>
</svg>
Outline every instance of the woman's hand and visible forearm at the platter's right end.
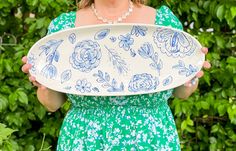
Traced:
<svg viewBox="0 0 236 151">
<path fill-rule="evenodd" d="M 203 47 L 201 51 L 206 55 L 208 53 L 208 49 L 206 47 Z M 208 61 L 205 61 L 203 63 L 204 69 L 211 68 L 211 64 Z M 201 70 L 196 74 L 196 77 L 192 80 L 188 81 L 182 86 L 179 86 L 175 88 L 173 95 L 175 97 L 181 98 L 181 99 L 187 99 L 198 87 L 198 79 L 201 78 L 204 75 L 204 72 Z"/>
</svg>

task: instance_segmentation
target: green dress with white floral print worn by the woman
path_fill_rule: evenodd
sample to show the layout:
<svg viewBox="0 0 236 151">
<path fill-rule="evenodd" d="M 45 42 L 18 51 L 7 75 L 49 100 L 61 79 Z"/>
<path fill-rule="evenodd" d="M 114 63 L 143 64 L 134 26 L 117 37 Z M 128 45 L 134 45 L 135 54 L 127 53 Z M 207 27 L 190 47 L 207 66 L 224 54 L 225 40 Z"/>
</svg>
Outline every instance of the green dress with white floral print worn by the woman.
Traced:
<svg viewBox="0 0 236 151">
<path fill-rule="evenodd" d="M 55 18 L 48 34 L 75 27 L 76 12 Z M 156 24 L 182 29 L 172 11 L 157 9 Z M 58 151 L 178 151 L 167 104 L 172 90 L 145 95 L 93 97 L 67 94 L 72 103 L 61 127 Z"/>
</svg>

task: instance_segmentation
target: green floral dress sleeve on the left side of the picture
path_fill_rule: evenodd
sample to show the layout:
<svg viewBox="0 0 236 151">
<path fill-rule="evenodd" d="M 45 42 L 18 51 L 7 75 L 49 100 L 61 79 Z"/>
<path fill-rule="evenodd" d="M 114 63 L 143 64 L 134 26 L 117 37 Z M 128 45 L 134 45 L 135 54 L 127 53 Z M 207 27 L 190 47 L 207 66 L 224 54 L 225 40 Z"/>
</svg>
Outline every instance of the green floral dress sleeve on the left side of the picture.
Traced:
<svg viewBox="0 0 236 151">
<path fill-rule="evenodd" d="M 53 19 L 48 26 L 47 35 L 58 32 L 60 30 L 75 27 L 76 12 L 62 13 Z"/>
</svg>

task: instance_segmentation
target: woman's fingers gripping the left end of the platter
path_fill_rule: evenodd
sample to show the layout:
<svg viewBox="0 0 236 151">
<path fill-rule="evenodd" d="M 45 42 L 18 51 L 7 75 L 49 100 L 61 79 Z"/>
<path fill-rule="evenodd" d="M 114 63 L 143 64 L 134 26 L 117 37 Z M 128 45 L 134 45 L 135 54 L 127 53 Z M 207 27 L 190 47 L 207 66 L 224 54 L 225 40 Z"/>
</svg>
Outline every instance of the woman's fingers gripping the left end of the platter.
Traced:
<svg viewBox="0 0 236 151">
<path fill-rule="evenodd" d="M 32 84 L 33 84 L 34 86 L 38 87 L 38 88 L 46 89 L 45 86 L 43 86 L 42 84 L 40 84 L 40 83 L 38 83 L 38 82 L 36 81 L 36 78 L 35 78 L 34 76 L 31 76 L 31 75 L 29 74 L 29 70 L 30 70 L 30 68 L 31 68 L 32 66 L 31 66 L 31 64 L 28 64 L 28 63 L 27 63 L 27 57 L 24 56 L 24 57 L 22 57 L 21 60 L 22 60 L 22 62 L 24 63 L 24 65 L 22 66 L 21 70 L 22 70 L 24 73 L 26 73 L 26 74 L 29 75 L 29 81 L 32 82 Z"/>
</svg>

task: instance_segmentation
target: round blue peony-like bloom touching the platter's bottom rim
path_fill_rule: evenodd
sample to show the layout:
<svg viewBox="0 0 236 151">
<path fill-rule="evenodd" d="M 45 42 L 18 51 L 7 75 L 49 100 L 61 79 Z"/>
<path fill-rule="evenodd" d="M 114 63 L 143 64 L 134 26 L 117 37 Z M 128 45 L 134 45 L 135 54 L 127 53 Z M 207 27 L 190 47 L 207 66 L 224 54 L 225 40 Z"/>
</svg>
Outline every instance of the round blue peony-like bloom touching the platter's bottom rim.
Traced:
<svg viewBox="0 0 236 151">
<path fill-rule="evenodd" d="M 136 74 L 129 82 L 128 89 L 130 92 L 148 92 L 155 90 L 158 84 L 158 79 L 153 77 L 151 74 Z"/>
</svg>

